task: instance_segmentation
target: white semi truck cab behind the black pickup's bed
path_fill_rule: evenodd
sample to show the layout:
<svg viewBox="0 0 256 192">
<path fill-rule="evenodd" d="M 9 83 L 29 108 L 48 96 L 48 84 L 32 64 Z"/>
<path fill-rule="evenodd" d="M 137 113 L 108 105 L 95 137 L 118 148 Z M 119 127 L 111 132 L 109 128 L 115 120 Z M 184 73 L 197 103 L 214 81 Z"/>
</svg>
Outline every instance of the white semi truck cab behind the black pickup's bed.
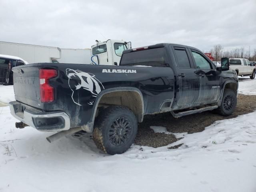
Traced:
<svg viewBox="0 0 256 192">
<path fill-rule="evenodd" d="M 124 50 L 131 49 L 131 42 L 108 39 L 96 40 L 91 49 L 91 61 L 95 65 L 119 65 Z"/>
</svg>

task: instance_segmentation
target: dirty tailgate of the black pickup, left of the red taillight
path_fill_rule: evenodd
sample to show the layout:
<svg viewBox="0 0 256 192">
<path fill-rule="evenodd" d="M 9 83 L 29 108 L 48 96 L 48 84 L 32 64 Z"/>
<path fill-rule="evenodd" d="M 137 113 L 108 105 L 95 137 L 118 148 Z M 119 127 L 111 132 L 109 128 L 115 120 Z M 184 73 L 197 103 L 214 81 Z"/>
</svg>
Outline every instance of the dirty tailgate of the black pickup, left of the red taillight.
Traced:
<svg viewBox="0 0 256 192">
<path fill-rule="evenodd" d="M 12 71 L 15 99 L 40 108 L 38 64 L 14 67 Z"/>
</svg>

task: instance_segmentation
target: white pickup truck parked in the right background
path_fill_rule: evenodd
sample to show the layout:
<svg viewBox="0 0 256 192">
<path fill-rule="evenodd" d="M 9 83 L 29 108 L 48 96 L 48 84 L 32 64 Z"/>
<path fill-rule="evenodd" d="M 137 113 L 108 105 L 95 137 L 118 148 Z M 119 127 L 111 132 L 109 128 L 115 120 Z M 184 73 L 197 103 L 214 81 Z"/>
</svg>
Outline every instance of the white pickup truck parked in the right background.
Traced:
<svg viewBox="0 0 256 192">
<path fill-rule="evenodd" d="M 256 67 L 250 66 L 250 61 L 244 58 L 230 58 L 230 68 L 236 71 L 238 76 L 250 76 L 250 79 L 255 78 Z"/>
</svg>

